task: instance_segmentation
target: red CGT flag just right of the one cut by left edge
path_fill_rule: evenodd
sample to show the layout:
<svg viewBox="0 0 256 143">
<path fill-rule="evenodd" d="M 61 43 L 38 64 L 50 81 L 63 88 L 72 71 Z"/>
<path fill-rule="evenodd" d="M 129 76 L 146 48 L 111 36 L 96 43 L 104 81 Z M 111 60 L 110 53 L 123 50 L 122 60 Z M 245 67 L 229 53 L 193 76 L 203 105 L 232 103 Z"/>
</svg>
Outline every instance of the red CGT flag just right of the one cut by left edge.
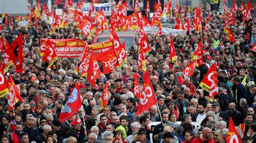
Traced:
<svg viewBox="0 0 256 143">
<path fill-rule="evenodd" d="M 11 75 L 9 75 L 9 94 L 8 94 L 8 104 L 9 104 L 9 113 L 12 114 L 12 111 L 14 110 L 15 104 L 18 101 L 22 102 L 21 95 L 19 94 L 19 91 L 14 84 L 14 81 L 12 80 Z"/>
</svg>

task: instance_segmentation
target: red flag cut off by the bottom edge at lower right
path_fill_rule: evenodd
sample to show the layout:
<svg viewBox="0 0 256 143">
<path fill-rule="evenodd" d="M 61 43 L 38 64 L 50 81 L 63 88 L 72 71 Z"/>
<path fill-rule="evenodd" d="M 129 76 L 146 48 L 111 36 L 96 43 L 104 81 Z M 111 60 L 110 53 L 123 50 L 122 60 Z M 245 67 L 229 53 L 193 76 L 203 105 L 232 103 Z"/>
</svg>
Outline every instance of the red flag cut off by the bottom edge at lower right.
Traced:
<svg viewBox="0 0 256 143">
<path fill-rule="evenodd" d="M 235 125 L 231 117 L 228 123 L 227 142 L 234 142 L 234 143 L 242 142 L 237 132 L 237 129 L 235 129 Z"/>
</svg>

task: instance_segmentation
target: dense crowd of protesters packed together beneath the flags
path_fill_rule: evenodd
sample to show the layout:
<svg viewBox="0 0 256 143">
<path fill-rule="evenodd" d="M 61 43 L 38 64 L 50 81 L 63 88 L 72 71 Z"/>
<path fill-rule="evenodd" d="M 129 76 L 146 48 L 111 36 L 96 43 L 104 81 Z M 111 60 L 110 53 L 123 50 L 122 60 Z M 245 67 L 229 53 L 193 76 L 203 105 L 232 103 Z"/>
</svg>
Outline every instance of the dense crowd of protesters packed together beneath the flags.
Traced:
<svg viewBox="0 0 256 143">
<path fill-rule="evenodd" d="M 203 12 L 207 17 L 208 11 Z M 169 58 L 170 36 L 146 35 L 151 47 L 145 57 L 146 65 L 158 105 L 152 105 L 139 116 L 133 79 L 137 78 L 142 87 L 144 71 L 137 66 L 136 43 L 127 51 L 127 63 L 110 74 L 100 75 L 96 87 L 92 87 L 85 77 L 80 77 L 82 70 L 76 71 L 79 58 L 59 59 L 52 68 L 47 68 L 48 63 L 39 58 L 41 38 L 79 38 L 90 44 L 90 40 L 78 34 L 77 27 L 68 26 L 50 35 L 50 26 L 40 20 L 37 27 L 3 26 L 2 34 L 9 44 L 19 33 L 23 34 L 24 73 L 16 73 L 15 66 L 8 71 L 23 102 L 15 104 L 11 116 L 7 96 L 1 98 L 2 142 L 150 142 L 151 133 L 153 142 L 226 142 L 230 117 L 243 142 L 256 142 L 256 53 L 251 51 L 256 42 L 256 22 L 252 19 L 244 27 L 241 13 L 235 16 L 237 23 L 230 27 L 235 42 L 228 40 L 223 13 L 218 11 L 212 12 L 208 33 L 204 28 L 199 33 L 191 28 L 185 35 L 173 37 L 179 63 L 173 68 Z M 193 17 L 190 18 L 192 23 Z M 193 70 L 191 77 L 185 77 L 181 70 L 191 62 L 199 41 L 203 42 L 204 63 Z M 3 65 L 3 54 L 0 61 Z M 199 83 L 214 62 L 218 65 L 218 95 L 210 99 Z M 76 81 L 82 108 L 60 123 L 59 115 Z M 105 82 L 111 97 L 100 111 Z M 155 121 L 160 124 L 150 128 L 149 124 Z M 193 126 L 194 123 L 199 126 Z"/>
</svg>

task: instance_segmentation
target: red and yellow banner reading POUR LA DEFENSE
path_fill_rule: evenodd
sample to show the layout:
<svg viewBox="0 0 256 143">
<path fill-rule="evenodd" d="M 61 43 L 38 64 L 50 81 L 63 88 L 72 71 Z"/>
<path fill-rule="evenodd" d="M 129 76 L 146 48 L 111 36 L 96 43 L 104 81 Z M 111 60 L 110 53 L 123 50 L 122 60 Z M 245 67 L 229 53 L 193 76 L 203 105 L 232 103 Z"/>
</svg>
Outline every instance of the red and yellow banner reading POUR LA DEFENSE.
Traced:
<svg viewBox="0 0 256 143">
<path fill-rule="evenodd" d="M 40 56 L 46 52 L 46 40 L 41 39 Z M 49 39 L 58 58 L 78 58 L 85 49 L 85 42 L 78 39 Z"/>
</svg>

